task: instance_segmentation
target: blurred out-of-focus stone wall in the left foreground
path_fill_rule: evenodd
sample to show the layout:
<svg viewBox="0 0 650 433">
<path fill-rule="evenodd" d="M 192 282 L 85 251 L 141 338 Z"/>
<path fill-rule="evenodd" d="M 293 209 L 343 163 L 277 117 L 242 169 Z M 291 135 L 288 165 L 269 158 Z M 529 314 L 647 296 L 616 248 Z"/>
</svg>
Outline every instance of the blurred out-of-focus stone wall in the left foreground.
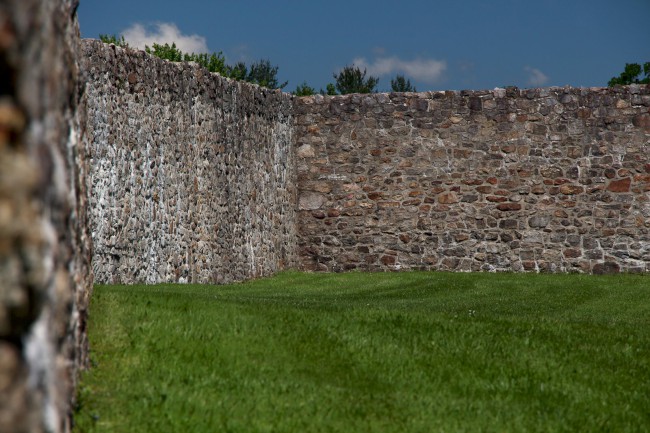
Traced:
<svg viewBox="0 0 650 433">
<path fill-rule="evenodd" d="M 0 3 L 0 431 L 70 430 L 92 286 L 72 0 Z"/>
</svg>

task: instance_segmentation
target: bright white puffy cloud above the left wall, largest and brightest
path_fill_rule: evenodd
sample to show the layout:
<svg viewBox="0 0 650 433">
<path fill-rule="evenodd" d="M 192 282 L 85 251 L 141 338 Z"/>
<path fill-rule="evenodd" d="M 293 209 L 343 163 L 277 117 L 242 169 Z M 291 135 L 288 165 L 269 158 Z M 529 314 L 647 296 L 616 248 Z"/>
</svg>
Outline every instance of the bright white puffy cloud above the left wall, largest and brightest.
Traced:
<svg viewBox="0 0 650 433">
<path fill-rule="evenodd" d="M 172 44 L 184 53 L 207 53 L 208 45 L 203 36 L 184 35 L 174 23 L 155 23 L 154 29 L 148 31 L 144 25 L 134 23 L 122 32 L 122 36 L 132 47 L 144 49 L 145 45 L 153 43 Z"/>
</svg>

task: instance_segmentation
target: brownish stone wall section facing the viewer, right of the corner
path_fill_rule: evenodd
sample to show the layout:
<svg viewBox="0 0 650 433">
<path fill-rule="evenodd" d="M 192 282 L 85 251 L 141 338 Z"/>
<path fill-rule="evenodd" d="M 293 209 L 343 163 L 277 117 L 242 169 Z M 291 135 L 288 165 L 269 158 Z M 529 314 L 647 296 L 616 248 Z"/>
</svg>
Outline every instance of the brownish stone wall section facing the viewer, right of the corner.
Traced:
<svg viewBox="0 0 650 433">
<path fill-rule="evenodd" d="M 650 271 L 650 89 L 295 102 L 304 269 Z"/>
</svg>

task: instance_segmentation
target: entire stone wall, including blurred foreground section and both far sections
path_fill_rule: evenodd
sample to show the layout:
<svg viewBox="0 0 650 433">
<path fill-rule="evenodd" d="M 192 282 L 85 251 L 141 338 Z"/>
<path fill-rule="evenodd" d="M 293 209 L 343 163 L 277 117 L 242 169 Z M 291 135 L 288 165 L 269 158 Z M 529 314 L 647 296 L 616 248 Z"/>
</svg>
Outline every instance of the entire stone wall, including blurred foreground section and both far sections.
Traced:
<svg viewBox="0 0 650 433">
<path fill-rule="evenodd" d="M 650 272 L 648 86 L 293 98 L 81 43 L 77 6 L 0 3 L 3 433 L 71 429 L 91 256 L 103 283 Z"/>
</svg>

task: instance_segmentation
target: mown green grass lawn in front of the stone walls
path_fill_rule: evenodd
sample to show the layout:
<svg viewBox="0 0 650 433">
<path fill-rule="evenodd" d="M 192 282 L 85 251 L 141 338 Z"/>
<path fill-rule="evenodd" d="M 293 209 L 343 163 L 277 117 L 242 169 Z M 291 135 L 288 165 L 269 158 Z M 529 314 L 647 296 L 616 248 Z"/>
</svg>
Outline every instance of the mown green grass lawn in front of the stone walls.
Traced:
<svg viewBox="0 0 650 433">
<path fill-rule="evenodd" d="M 76 432 L 648 432 L 650 278 L 98 286 Z"/>
</svg>

